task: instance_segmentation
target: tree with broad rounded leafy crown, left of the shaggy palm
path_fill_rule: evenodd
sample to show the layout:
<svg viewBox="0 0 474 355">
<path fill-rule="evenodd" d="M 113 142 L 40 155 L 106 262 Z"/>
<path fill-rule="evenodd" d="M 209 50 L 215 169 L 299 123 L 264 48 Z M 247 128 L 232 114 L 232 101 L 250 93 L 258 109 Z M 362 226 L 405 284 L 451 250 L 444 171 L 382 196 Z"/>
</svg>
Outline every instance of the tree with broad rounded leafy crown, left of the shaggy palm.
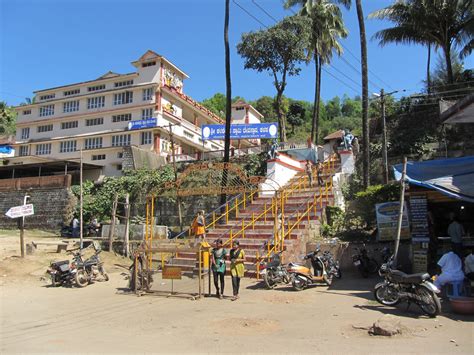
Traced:
<svg viewBox="0 0 474 355">
<path fill-rule="evenodd" d="M 237 52 L 244 58 L 245 69 L 267 71 L 273 76 L 277 91 L 275 107 L 278 116 L 280 141 L 286 141 L 285 113 L 282 97 L 287 77 L 298 75 L 298 64 L 306 60 L 305 49 L 309 40 L 309 20 L 301 16 L 284 18 L 265 30 L 244 33 Z"/>
</svg>

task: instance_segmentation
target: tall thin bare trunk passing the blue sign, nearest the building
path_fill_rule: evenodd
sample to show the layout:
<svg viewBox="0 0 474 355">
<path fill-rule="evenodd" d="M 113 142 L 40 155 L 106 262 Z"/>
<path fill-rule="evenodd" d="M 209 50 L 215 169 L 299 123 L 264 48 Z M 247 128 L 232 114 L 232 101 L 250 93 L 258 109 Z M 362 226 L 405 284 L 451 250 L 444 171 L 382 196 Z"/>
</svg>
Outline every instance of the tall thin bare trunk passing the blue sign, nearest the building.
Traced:
<svg viewBox="0 0 474 355">
<path fill-rule="evenodd" d="M 225 20 L 224 20 L 224 47 L 225 47 L 225 83 L 226 83 L 226 102 L 225 102 L 225 135 L 224 135 L 224 162 L 228 163 L 230 159 L 230 123 L 232 120 L 232 82 L 230 78 L 230 49 L 229 49 L 229 2 L 225 1 Z M 222 173 L 221 186 L 227 185 L 227 169 Z M 221 195 L 221 205 L 226 202 L 226 194 Z"/>
</svg>

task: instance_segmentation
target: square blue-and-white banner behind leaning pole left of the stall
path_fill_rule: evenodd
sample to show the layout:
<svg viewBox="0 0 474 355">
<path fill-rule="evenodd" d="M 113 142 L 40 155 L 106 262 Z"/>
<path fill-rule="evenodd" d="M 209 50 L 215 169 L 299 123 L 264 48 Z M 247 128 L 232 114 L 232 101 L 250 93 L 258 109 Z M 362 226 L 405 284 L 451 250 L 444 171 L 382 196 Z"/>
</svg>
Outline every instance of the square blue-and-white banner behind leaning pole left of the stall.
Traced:
<svg viewBox="0 0 474 355">
<path fill-rule="evenodd" d="M 385 202 L 375 205 L 377 216 L 378 240 L 395 240 L 397 236 L 398 210 L 400 202 Z M 406 203 L 403 206 L 402 230 L 400 239 L 410 238 L 410 226 L 408 223 L 408 210 Z"/>
</svg>

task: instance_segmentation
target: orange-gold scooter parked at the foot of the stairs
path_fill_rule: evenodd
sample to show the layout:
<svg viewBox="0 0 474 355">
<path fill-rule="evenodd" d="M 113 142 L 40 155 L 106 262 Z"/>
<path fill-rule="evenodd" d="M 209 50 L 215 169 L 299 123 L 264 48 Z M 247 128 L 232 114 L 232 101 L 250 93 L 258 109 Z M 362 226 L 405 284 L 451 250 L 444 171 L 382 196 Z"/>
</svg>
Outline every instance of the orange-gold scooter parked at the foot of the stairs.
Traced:
<svg viewBox="0 0 474 355">
<path fill-rule="evenodd" d="M 310 285 L 322 282 L 326 283 L 328 286 L 332 284 L 337 269 L 333 267 L 332 271 L 328 272 L 329 270 L 327 269 L 327 261 L 325 260 L 325 257 L 318 255 L 320 251 L 321 250 L 317 248 L 314 252 L 305 255 L 303 258 L 304 260 L 311 261 L 314 274 L 311 272 L 311 268 L 308 268 L 305 265 L 294 263 L 288 265 L 288 272 L 291 275 L 292 286 L 296 291 L 304 290 Z"/>
</svg>

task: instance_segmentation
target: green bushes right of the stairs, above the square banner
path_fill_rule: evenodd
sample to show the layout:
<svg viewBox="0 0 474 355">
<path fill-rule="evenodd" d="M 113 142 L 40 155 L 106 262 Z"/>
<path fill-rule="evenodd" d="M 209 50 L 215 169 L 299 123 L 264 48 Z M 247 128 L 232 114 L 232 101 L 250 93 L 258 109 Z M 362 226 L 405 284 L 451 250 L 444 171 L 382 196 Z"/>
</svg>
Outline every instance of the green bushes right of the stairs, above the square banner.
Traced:
<svg viewBox="0 0 474 355">
<path fill-rule="evenodd" d="M 375 205 L 387 201 L 398 201 L 400 187 L 397 184 L 373 185 L 355 194 L 355 210 L 365 222 L 366 228 L 375 225 Z"/>
</svg>

